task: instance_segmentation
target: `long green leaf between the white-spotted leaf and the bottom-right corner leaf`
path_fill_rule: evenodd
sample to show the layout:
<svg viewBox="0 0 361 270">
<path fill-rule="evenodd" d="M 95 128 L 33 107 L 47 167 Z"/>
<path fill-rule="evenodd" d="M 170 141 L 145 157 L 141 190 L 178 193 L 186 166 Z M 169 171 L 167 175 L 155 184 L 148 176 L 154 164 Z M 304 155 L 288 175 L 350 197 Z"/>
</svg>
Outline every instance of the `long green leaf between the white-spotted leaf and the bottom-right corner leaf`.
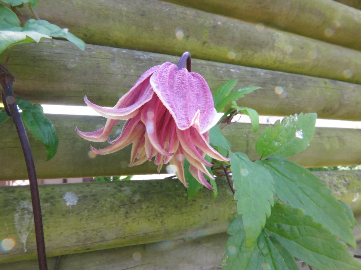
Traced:
<svg viewBox="0 0 361 270">
<path fill-rule="evenodd" d="M 332 234 L 356 247 L 345 209 L 318 177 L 287 160 L 269 159 L 261 163 L 273 176 L 275 193 L 281 202 L 303 209 Z"/>
</svg>

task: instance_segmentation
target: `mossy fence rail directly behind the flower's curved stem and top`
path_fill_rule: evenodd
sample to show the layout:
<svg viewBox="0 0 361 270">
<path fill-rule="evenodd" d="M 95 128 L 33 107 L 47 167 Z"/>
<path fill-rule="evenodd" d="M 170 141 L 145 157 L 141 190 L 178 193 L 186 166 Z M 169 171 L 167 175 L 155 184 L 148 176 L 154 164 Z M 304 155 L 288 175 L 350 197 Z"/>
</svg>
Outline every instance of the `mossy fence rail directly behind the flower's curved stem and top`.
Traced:
<svg viewBox="0 0 361 270">
<path fill-rule="evenodd" d="M 16 95 L 32 102 L 64 105 L 85 105 L 83 97 L 87 95 L 93 103 L 106 107 L 115 105 L 147 69 L 179 60 L 178 56 L 97 45 L 80 51 L 66 41 L 21 44 L 2 55 L 4 59 L 10 55 Z M 192 70 L 206 79 L 213 93 L 232 78 L 239 80 L 234 90 L 263 87 L 238 101 L 260 115 L 317 112 L 319 118 L 361 121 L 359 84 L 195 58 Z M 276 87 L 282 87 L 280 95 Z"/>
</svg>

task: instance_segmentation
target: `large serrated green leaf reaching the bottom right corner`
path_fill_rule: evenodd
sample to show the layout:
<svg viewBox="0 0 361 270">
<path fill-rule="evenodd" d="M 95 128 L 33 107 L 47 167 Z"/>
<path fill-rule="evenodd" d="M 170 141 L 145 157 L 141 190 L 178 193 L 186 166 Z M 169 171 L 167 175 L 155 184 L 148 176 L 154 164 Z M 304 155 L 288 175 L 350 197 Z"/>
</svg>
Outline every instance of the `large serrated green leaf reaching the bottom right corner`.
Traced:
<svg viewBox="0 0 361 270">
<path fill-rule="evenodd" d="M 317 269 L 361 269 L 347 245 L 303 210 L 276 203 L 264 231 L 293 256 Z"/>
</svg>

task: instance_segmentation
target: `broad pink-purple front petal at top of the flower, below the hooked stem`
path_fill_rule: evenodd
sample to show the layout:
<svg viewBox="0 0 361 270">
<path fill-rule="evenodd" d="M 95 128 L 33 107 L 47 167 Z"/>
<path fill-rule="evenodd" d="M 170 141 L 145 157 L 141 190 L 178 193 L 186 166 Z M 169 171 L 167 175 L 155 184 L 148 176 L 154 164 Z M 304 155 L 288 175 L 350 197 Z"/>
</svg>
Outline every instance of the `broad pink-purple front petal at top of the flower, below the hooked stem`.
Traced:
<svg viewBox="0 0 361 270">
<path fill-rule="evenodd" d="M 212 93 L 198 73 L 164 63 L 153 73 L 150 84 L 179 129 L 194 126 L 202 134 L 217 123 L 219 117 L 214 109 Z"/>
</svg>

